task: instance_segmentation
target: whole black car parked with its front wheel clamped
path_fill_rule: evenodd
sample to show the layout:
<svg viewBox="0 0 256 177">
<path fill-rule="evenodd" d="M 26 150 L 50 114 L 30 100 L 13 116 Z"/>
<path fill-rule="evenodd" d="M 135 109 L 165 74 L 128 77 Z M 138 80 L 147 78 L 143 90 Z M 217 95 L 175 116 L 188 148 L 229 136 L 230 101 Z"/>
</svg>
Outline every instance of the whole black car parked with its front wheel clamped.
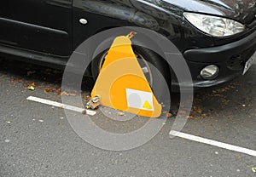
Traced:
<svg viewBox="0 0 256 177">
<path fill-rule="evenodd" d="M 255 58 L 256 0 L 2 1 L 0 52 L 64 68 L 80 43 L 118 26 L 141 26 L 170 39 L 189 66 L 194 88 L 226 83 L 244 74 Z M 134 50 L 178 88 L 159 55 Z M 92 61 L 88 74 L 98 74 L 107 52 Z"/>
</svg>

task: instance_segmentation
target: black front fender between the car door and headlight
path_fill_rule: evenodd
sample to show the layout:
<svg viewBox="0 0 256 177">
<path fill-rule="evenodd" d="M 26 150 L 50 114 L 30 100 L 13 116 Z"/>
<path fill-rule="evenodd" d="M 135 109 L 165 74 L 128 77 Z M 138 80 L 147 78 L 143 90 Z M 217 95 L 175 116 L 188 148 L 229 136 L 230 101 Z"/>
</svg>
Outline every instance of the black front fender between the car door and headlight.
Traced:
<svg viewBox="0 0 256 177">
<path fill-rule="evenodd" d="M 170 5 L 171 7 L 171 5 Z M 74 41 L 82 42 L 84 37 L 94 34 L 99 29 L 108 29 L 117 26 L 142 26 L 158 31 L 172 40 L 182 52 L 189 48 L 213 46 L 212 37 L 202 34 L 200 31 L 191 30 L 191 25 L 183 22 L 183 9 L 174 7 L 162 9 L 153 3 L 142 0 L 131 1 L 100 1 L 78 0 L 74 1 L 75 14 L 73 21 L 85 16 L 89 21 L 88 26 L 74 24 L 74 31 L 89 31 L 90 34 L 79 34 Z M 120 13 L 122 12 L 122 13 Z M 85 13 L 85 14 L 84 14 Z M 100 15 L 100 16 L 99 16 Z M 95 19 L 101 18 L 101 24 L 95 24 Z M 90 21 L 92 21 L 90 23 Z M 108 25 L 107 25 L 108 24 Z M 89 29 L 89 30 L 88 30 Z M 80 35 L 84 35 L 80 37 Z M 74 46 L 77 47 L 74 43 Z"/>
</svg>

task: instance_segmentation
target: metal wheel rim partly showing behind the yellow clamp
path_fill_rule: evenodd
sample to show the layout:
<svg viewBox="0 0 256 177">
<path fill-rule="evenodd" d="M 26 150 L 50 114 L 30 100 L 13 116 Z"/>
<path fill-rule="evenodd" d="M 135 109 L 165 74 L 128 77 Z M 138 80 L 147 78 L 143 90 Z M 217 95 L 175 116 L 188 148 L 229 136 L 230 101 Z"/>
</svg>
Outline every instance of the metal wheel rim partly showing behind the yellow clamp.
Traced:
<svg viewBox="0 0 256 177">
<path fill-rule="evenodd" d="M 98 71 L 101 71 L 102 66 L 103 66 L 103 63 L 104 63 L 104 61 L 105 61 L 105 59 L 106 59 L 106 57 L 107 57 L 107 54 L 108 54 L 108 50 L 105 51 L 105 52 L 101 55 L 100 60 L 99 60 L 99 63 L 98 63 L 98 68 L 97 68 Z M 154 80 L 153 80 L 152 71 L 151 71 L 151 69 L 150 69 L 150 67 L 149 67 L 149 65 L 148 65 L 148 61 L 145 60 L 145 58 L 143 57 L 143 55 L 142 55 L 142 54 L 139 54 L 137 51 L 134 51 L 134 54 L 135 54 L 135 56 L 136 56 L 136 58 L 137 58 L 137 61 L 138 61 L 139 65 L 141 66 L 141 68 L 142 68 L 142 70 L 143 70 L 143 73 L 144 73 L 145 77 L 146 77 L 147 80 L 148 80 L 149 85 L 152 86 Z"/>
</svg>

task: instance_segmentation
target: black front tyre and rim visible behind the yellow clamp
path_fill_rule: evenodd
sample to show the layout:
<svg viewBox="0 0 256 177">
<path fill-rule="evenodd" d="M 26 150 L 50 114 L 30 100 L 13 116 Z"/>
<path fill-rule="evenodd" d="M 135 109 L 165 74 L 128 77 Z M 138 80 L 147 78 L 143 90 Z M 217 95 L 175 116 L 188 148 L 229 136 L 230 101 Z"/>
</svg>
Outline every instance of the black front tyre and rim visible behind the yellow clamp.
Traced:
<svg viewBox="0 0 256 177">
<path fill-rule="evenodd" d="M 132 48 L 155 96 L 157 98 L 161 98 L 164 94 L 166 94 L 163 92 L 165 87 L 162 86 L 166 85 L 169 87 L 169 83 L 171 83 L 170 71 L 168 65 L 166 65 L 166 61 L 164 61 L 159 54 L 155 54 L 149 49 L 145 49 L 139 46 L 133 46 Z M 107 54 L 108 50 L 102 52 L 102 54 L 97 55 L 96 58 L 92 60 L 91 71 L 92 77 L 95 81 Z M 156 69 L 158 70 L 157 72 Z M 162 76 L 160 76 L 159 73 Z"/>
</svg>

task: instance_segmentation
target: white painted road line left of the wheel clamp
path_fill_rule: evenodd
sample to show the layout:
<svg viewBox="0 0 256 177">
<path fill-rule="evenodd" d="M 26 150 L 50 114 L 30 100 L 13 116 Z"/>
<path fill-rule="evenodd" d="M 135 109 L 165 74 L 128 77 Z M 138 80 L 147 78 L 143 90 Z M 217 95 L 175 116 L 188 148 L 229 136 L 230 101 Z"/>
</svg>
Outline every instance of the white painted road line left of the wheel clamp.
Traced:
<svg viewBox="0 0 256 177">
<path fill-rule="evenodd" d="M 52 100 L 45 100 L 45 99 L 40 99 L 34 96 L 29 96 L 26 98 L 26 100 L 32 100 L 38 103 L 43 103 L 45 105 L 49 105 L 49 106 L 55 106 L 55 107 L 61 107 L 63 109 L 67 109 L 67 110 L 71 110 L 71 111 L 78 111 L 80 113 L 82 113 L 84 111 L 83 108 L 79 108 L 76 106 L 69 106 L 69 105 L 65 105 L 56 101 L 52 101 Z M 96 115 L 96 111 L 90 111 L 90 110 L 86 110 L 86 114 L 90 115 L 90 116 L 94 116 Z"/>
</svg>

